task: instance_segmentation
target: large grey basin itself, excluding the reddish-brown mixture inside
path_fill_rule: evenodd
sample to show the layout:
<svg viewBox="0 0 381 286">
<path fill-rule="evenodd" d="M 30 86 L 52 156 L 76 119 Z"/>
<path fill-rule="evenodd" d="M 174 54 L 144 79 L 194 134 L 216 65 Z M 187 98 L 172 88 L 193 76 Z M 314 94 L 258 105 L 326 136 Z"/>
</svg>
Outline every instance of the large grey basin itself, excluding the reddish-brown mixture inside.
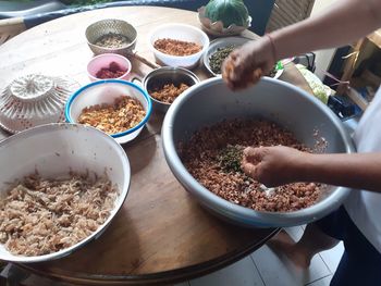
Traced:
<svg viewBox="0 0 381 286">
<path fill-rule="evenodd" d="M 316 130 L 327 153 L 351 153 L 351 137 L 336 115 L 322 102 L 291 84 L 262 78 L 239 92 L 231 91 L 222 78 L 211 78 L 186 90 L 169 109 L 162 126 L 165 160 L 179 182 L 208 210 L 230 222 L 249 227 L 292 226 L 318 220 L 336 209 L 349 189 L 328 186 L 320 200 L 294 212 L 261 212 L 229 202 L 199 184 L 182 163 L 176 147 L 201 127 L 226 119 L 261 117 L 294 133 L 308 147 L 316 146 Z"/>
</svg>

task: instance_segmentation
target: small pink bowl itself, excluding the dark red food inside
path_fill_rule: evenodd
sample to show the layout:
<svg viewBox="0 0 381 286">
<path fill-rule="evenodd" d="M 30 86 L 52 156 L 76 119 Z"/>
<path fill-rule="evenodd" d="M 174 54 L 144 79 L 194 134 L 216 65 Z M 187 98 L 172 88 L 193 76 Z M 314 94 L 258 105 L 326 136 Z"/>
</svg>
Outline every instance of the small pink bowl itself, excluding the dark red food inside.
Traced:
<svg viewBox="0 0 381 286">
<path fill-rule="evenodd" d="M 87 64 L 87 75 L 90 78 L 91 82 L 102 80 L 106 78 L 99 78 L 97 77 L 97 73 L 101 69 L 109 69 L 110 64 L 114 62 L 121 67 L 125 73 L 119 77 L 115 77 L 114 79 L 124 79 L 128 80 L 130 73 L 131 73 L 131 62 L 127 58 L 116 54 L 116 53 L 102 53 L 99 55 L 94 57 Z"/>
</svg>

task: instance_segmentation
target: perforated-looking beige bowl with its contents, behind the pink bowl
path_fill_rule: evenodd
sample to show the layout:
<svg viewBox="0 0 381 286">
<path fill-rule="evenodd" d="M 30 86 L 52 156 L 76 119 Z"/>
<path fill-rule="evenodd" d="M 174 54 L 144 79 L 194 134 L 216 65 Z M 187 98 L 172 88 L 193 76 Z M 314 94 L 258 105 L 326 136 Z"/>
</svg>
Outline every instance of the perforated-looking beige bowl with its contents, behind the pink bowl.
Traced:
<svg viewBox="0 0 381 286">
<path fill-rule="evenodd" d="M 93 23 L 85 32 L 87 45 L 95 54 L 127 55 L 136 46 L 137 32 L 130 23 L 105 18 Z"/>
</svg>

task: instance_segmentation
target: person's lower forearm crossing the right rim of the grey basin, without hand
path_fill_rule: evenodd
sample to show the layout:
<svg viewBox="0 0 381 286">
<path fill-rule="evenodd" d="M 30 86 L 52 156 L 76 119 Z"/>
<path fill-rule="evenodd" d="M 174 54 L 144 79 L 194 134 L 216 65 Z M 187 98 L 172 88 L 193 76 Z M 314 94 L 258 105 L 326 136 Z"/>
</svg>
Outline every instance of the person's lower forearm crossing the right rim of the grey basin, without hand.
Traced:
<svg viewBox="0 0 381 286">
<path fill-rule="evenodd" d="M 381 153 L 306 154 L 296 181 L 381 192 Z"/>
</svg>

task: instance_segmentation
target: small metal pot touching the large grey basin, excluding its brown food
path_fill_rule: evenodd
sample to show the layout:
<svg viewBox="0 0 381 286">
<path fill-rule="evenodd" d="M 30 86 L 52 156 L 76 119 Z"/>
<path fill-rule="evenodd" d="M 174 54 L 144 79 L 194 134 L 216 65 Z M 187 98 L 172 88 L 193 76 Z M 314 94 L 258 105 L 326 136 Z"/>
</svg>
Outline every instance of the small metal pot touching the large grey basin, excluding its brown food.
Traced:
<svg viewBox="0 0 381 286">
<path fill-rule="evenodd" d="M 193 85 L 198 84 L 199 79 L 194 73 L 192 73 L 186 69 L 171 67 L 171 66 L 163 66 L 163 67 L 153 70 L 152 72 L 147 74 L 143 79 L 143 86 L 147 90 L 148 95 L 149 95 L 149 90 L 152 90 L 158 87 L 162 87 L 167 84 L 174 84 L 175 86 L 179 86 L 182 83 L 190 87 Z M 157 110 L 160 112 L 167 112 L 168 109 L 171 107 L 171 103 L 157 100 L 150 95 L 149 97 L 152 100 L 153 110 Z"/>
</svg>

